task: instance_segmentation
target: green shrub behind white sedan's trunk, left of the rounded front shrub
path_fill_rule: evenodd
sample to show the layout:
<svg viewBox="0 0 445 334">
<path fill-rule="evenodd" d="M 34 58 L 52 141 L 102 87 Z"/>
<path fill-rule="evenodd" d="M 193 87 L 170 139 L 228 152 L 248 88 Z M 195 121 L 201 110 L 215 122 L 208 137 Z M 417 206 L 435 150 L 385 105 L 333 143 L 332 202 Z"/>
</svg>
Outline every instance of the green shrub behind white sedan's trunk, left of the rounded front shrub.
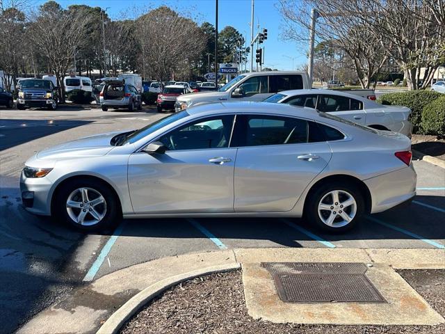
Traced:
<svg viewBox="0 0 445 334">
<path fill-rule="evenodd" d="M 411 109 L 410 121 L 414 134 L 423 134 L 421 118 L 423 107 L 441 97 L 441 93 L 430 90 L 410 90 L 408 92 L 388 93 L 378 98 L 377 102 L 392 106 L 407 106 Z"/>
</svg>

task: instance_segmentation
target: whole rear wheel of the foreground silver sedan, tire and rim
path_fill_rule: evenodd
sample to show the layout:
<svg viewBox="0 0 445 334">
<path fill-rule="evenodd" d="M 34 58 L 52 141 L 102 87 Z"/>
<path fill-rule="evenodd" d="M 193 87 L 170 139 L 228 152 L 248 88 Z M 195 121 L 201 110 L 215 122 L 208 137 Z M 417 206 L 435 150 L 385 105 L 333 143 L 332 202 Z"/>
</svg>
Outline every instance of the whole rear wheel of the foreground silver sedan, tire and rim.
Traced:
<svg viewBox="0 0 445 334">
<path fill-rule="evenodd" d="M 364 213 L 364 199 L 357 186 L 331 182 L 318 187 L 307 200 L 305 218 L 327 232 L 346 232 Z"/>
</svg>

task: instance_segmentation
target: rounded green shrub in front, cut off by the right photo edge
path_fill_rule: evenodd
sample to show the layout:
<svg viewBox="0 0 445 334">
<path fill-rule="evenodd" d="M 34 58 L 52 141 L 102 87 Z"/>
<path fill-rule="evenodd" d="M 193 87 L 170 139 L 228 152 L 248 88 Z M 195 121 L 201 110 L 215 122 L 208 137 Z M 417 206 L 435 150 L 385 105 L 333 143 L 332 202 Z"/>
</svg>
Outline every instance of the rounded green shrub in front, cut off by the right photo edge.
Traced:
<svg viewBox="0 0 445 334">
<path fill-rule="evenodd" d="M 445 95 L 423 108 L 422 129 L 425 134 L 445 136 Z"/>
</svg>

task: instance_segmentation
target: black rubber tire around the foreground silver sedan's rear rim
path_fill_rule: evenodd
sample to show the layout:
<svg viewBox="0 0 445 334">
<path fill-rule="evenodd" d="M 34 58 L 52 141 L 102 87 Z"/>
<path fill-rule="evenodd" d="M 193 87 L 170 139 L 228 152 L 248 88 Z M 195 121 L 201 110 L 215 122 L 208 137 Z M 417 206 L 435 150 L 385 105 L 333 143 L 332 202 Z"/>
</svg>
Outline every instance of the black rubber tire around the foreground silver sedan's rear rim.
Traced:
<svg viewBox="0 0 445 334">
<path fill-rule="evenodd" d="M 331 191 L 340 191 L 340 201 L 338 202 L 338 205 L 335 205 L 335 203 L 332 203 L 331 206 L 331 200 L 333 199 L 332 196 L 328 196 Z M 355 215 L 350 220 L 349 223 L 346 223 L 346 225 L 342 225 L 346 222 L 345 219 L 343 219 L 341 216 L 339 216 L 339 212 L 342 212 L 341 210 L 343 207 L 340 207 L 341 202 L 343 200 L 346 200 L 348 195 L 350 195 L 355 200 Z M 325 197 L 327 196 L 327 197 Z M 324 200 L 323 200 L 324 198 Z M 321 202 L 323 200 L 323 202 Z M 321 210 L 321 213 L 318 213 L 318 205 L 319 204 L 326 204 L 330 207 L 328 209 L 330 210 Z M 337 210 L 337 211 L 334 211 Z M 344 213 L 352 215 L 353 205 L 350 207 L 345 207 Z M 321 219 L 321 216 L 325 218 L 327 221 L 327 218 L 330 217 L 331 214 L 337 214 L 334 218 L 334 223 L 332 225 L 327 225 L 327 223 L 323 222 Z M 357 186 L 351 182 L 329 182 L 325 184 L 321 184 L 321 186 L 318 186 L 315 191 L 312 191 L 309 195 L 309 197 L 306 200 L 305 205 L 305 219 L 309 223 L 313 223 L 316 225 L 316 227 L 320 230 L 330 232 L 330 233 L 341 233 L 346 232 L 348 230 L 351 230 L 352 228 L 357 225 L 357 222 L 359 221 L 360 217 L 364 214 L 364 198 L 361 193 L 361 191 L 357 188 Z M 341 223 L 340 221 L 343 221 Z"/>
</svg>

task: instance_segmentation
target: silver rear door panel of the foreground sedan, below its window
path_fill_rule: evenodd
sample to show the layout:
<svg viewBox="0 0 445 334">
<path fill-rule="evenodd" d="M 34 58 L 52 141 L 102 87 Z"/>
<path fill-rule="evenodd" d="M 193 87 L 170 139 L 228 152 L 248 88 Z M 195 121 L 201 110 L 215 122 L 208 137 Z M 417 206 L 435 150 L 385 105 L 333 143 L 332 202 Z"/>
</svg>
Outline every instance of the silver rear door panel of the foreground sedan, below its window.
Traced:
<svg viewBox="0 0 445 334">
<path fill-rule="evenodd" d="M 305 154 L 318 158 L 298 159 Z M 327 166 L 332 152 L 323 143 L 238 148 L 235 164 L 235 212 L 283 212 Z"/>
</svg>

